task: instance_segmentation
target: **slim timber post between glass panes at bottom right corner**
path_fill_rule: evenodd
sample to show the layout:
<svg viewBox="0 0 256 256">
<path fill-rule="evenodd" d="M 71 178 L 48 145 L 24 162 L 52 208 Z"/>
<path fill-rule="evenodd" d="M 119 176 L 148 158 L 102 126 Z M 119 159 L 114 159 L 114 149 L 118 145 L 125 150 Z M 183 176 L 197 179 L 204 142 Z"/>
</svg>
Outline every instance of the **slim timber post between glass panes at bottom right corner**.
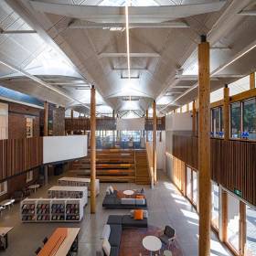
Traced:
<svg viewBox="0 0 256 256">
<path fill-rule="evenodd" d="M 245 255 L 246 245 L 246 205 L 240 201 L 240 256 Z"/>
</svg>

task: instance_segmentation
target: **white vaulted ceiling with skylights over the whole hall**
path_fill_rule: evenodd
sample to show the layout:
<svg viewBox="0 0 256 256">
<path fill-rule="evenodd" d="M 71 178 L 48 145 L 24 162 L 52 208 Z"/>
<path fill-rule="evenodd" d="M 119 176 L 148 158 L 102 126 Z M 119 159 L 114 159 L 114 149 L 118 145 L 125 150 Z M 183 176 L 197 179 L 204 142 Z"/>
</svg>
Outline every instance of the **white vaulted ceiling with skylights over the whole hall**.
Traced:
<svg viewBox="0 0 256 256">
<path fill-rule="evenodd" d="M 136 28 L 130 29 L 132 79 L 129 81 L 125 31 L 107 29 L 123 27 L 122 22 L 117 22 L 123 20 L 123 7 L 102 6 L 122 6 L 124 1 L 2 1 L 3 30 L 37 33 L 0 34 L 0 59 L 10 64 L 6 68 L 0 62 L 0 84 L 66 107 L 83 104 L 80 111 L 84 112 L 88 112 L 85 106 L 90 105 L 87 89 L 94 84 L 98 91 L 98 112 L 114 109 L 127 114 L 132 110 L 142 115 L 154 99 L 159 111 L 169 112 L 197 97 L 197 44 L 202 34 L 208 35 L 211 45 L 212 91 L 256 69 L 256 48 L 251 48 L 256 45 L 256 17 L 239 15 L 244 9 L 254 9 L 253 3 L 253 0 L 133 0 L 130 12 Z M 168 12 L 161 5 L 169 5 L 164 7 Z M 91 19 L 85 15 L 89 8 L 92 14 L 97 14 L 97 23 L 89 22 Z M 216 8 L 219 11 L 214 11 Z M 115 15 L 110 23 L 113 18 L 110 14 L 116 10 L 121 15 Z M 196 11 L 198 15 L 190 16 Z M 157 16 L 159 12 L 161 15 Z M 179 14 L 184 18 L 174 18 Z M 137 20 L 136 15 L 143 18 Z M 167 23 L 162 22 L 164 17 Z M 10 67 L 37 76 L 57 91 L 24 78 Z M 70 98 L 63 98 L 59 91 Z M 132 101 L 127 101 L 127 96 L 133 96 Z"/>
</svg>

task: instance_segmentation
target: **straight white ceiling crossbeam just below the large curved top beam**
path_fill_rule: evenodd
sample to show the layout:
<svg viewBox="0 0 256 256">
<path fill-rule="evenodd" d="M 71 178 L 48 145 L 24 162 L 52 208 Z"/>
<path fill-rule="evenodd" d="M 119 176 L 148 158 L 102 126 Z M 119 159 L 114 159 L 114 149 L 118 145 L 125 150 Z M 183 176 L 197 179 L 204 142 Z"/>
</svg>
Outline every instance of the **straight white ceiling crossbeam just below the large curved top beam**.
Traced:
<svg viewBox="0 0 256 256">
<path fill-rule="evenodd" d="M 162 22 L 162 23 L 151 23 L 150 21 L 144 23 L 133 23 L 129 26 L 129 28 L 186 28 L 189 25 L 183 21 L 170 21 L 170 22 Z M 91 29 L 91 28 L 118 28 L 122 30 L 125 28 L 124 23 L 91 23 L 84 20 L 76 19 L 74 22 L 69 24 L 69 28 L 71 29 Z"/>
</svg>

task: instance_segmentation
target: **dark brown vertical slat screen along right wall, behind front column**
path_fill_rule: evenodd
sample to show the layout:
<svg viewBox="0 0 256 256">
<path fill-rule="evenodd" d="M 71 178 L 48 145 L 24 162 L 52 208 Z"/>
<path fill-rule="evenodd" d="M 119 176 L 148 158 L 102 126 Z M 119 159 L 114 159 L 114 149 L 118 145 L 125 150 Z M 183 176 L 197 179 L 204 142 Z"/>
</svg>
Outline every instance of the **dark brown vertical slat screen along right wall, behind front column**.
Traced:
<svg viewBox="0 0 256 256">
<path fill-rule="evenodd" d="M 174 135 L 173 155 L 197 169 L 197 137 Z M 256 206 L 256 143 L 211 139 L 211 177 Z"/>
</svg>

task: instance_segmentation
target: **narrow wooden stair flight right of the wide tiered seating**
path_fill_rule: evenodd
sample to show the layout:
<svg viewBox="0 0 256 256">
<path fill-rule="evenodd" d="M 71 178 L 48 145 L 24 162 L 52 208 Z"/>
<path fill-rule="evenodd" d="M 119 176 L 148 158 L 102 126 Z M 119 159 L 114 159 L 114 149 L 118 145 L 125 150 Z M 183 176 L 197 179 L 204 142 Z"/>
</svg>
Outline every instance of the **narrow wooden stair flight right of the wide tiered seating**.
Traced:
<svg viewBox="0 0 256 256">
<path fill-rule="evenodd" d="M 136 165 L 135 183 L 139 185 L 150 185 L 146 151 L 143 149 L 136 150 L 134 154 Z"/>
</svg>

